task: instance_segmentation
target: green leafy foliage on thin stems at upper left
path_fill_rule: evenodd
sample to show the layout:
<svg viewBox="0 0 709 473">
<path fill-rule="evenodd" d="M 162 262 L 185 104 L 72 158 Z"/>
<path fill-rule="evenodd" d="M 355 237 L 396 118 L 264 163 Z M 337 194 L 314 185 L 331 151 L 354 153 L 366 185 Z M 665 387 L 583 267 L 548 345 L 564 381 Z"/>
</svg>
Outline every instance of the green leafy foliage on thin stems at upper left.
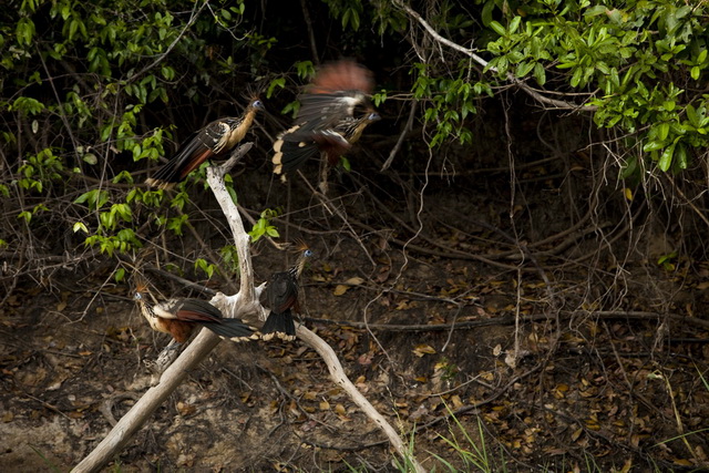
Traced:
<svg viewBox="0 0 709 473">
<path fill-rule="evenodd" d="M 194 209 L 185 186 L 146 189 L 142 169 L 175 150 L 178 128 L 240 113 L 234 91 L 257 73 L 240 58 L 265 48 L 245 9 L 11 1 L 0 24 L 2 245 L 37 255 L 66 239 L 112 256 L 143 247 L 144 225 L 181 236 Z"/>
</svg>

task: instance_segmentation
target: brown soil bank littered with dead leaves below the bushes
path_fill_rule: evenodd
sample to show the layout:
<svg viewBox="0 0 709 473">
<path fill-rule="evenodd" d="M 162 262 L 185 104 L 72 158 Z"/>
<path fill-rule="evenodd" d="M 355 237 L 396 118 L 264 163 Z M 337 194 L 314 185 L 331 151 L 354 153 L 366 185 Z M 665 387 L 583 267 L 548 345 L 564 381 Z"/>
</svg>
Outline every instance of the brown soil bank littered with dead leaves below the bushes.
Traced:
<svg viewBox="0 0 709 473">
<path fill-rule="evenodd" d="M 347 225 L 294 184 L 289 236 L 318 254 L 304 274 L 302 321 L 427 469 L 709 467 L 707 261 L 668 269 L 626 251 L 619 280 L 617 253 L 582 228 L 563 258 L 544 254 L 559 237 L 520 265 L 524 245 L 572 225 L 561 199 L 536 192 L 512 206 L 525 234 L 510 246 L 500 232 L 515 232 L 511 196 L 493 179 L 456 194 L 439 179 L 422 203 L 346 181 L 333 176 L 330 195 Z M 255 183 L 254 195 L 270 185 Z M 248 196 L 243 205 L 265 207 Z M 183 254 L 212 245 L 210 222 Z M 505 248 L 513 254 L 492 264 L 477 258 Z M 573 258 L 583 263 L 559 263 Z M 265 243 L 254 261 L 259 280 L 287 264 Z M 168 337 L 151 331 L 114 268 L 23 278 L 0 308 L 0 471 L 70 470 L 148 388 L 144 361 Z M 173 273 L 233 291 L 234 281 Z M 210 297 L 146 275 L 163 296 Z M 395 460 L 300 341 L 222 342 L 104 471 L 392 471 Z"/>
</svg>

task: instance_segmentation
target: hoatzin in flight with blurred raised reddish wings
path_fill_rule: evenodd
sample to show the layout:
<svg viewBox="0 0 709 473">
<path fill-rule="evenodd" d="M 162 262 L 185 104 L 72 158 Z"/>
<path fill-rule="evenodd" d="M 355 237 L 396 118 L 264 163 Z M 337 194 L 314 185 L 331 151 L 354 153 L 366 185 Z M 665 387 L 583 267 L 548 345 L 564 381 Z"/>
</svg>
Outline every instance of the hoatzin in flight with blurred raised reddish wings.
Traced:
<svg viewBox="0 0 709 473">
<path fill-rule="evenodd" d="M 367 125 L 380 119 L 369 96 L 374 83 L 369 70 L 351 60 L 325 65 L 300 95 L 296 125 L 278 136 L 274 144 L 274 173 L 295 172 L 317 151 L 335 165 Z M 356 116 L 356 107 L 364 107 Z"/>
</svg>

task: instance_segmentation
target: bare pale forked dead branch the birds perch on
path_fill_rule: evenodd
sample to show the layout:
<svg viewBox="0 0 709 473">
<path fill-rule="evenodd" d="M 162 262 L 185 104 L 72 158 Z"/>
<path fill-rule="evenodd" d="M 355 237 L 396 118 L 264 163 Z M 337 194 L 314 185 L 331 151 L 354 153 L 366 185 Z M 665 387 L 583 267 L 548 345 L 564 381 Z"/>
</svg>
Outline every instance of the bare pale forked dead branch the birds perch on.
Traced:
<svg viewBox="0 0 709 473">
<path fill-rule="evenodd" d="M 234 241 L 239 256 L 240 286 L 234 296 L 217 294 L 210 302 L 219 308 L 225 317 L 246 319 L 255 325 L 263 325 L 265 310 L 258 302 L 258 294 L 263 286 L 256 287 L 254 269 L 249 251 L 249 236 L 232 196 L 224 185 L 224 175 L 250 150 L 251 143 L 246 143 L 234 151 L 232 157 L 222 166 L 207 169 L 207 181 L 222 206 L 225 218 L 232 229 Z M 412 465 L 417 472 L 425 470 L 408 451 L 405 443 L 393 426 L 381 415 L 348 379 L 342 366 L 332 348 L 319 336 L 304 326 L 297 327 L 297 338 L 316 350 L 328 367 L 332 380 L 347 392 L 350 399 L 371 419 L 387 435 L 392 448 Z M 95 472 L 117 455 L 132 436 L 148 421 L 153 412 L 172 394 L 204 358 L 212 352 L 220 339 L 209 330 L 202 330 L 182 354 L 163 372 L 157 385 L 148 389 L 135 405 L 113 426 L 105 439 L 84 457 L 72 471 Z"/>
</svg>

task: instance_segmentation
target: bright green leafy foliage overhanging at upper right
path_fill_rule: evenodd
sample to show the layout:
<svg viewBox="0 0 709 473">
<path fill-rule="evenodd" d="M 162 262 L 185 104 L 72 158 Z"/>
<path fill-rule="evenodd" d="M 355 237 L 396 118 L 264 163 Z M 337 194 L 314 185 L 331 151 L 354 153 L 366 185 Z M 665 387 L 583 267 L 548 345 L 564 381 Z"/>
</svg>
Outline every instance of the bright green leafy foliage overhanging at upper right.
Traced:
<svg viewBox="0 0 709 473">
<path fill-rule="evenodd" d="M 397 3 L 397 2 L 394 2 Z M 481 96 L 523 83 L 542 106 L 592 113 L 621 135 L 624 177 L 699 164 L 709 145 L 709 12 L 705 2 L 439 2 L 428 19 L 444 54 L 412 64 L 431 145 L 474 137 L 465 119 Z M 399 29 L 400 11 L 373 17 Z M 455 64 L 451 66 L 450 64 Z M 562 100 L 557 100 L 562 99 Z"/>
</svg>

